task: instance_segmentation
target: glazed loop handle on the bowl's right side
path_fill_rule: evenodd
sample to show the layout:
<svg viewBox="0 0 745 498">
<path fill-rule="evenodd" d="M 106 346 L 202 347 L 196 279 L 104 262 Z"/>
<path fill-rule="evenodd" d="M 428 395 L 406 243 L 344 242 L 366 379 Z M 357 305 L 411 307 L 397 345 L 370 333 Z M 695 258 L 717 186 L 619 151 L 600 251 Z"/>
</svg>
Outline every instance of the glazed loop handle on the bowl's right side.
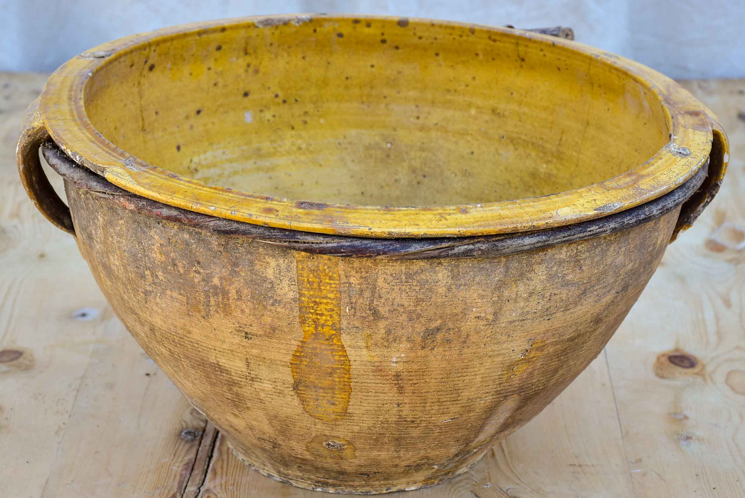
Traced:
<svg viewBox="0 0 745 498">
<path fill-rule="evenodd" d="M 708 206 L 708 203 L 714 199 L 714 195 L 717 195 L 717 192 L 719 192 L 724 174 L 727 171 L 729 139 L 727 139 L 727 134 L 724 132 L 717 116 L 714 116 L 714 113 L 708 111 L 708 117 L 711 121 L 712 135 L 711 151 L 708 154 L 708 174 L 699 189 L 683 203 L 670 242 L 673 242 L 679 233 L 691 228 L 696 218 Z"/>
</svg>

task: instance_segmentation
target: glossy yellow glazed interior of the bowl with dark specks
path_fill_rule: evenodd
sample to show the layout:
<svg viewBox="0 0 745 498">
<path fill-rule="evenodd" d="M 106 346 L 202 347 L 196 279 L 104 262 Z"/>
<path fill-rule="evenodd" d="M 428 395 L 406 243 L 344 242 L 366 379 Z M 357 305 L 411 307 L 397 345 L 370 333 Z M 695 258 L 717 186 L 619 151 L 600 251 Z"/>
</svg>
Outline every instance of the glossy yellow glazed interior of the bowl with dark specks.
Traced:
<svg viewBox="0 0 745 498">
<path fill-rule="evenodd" d="M 548 37 L 406 19 L 160 37 L 110 57 L 85 108 L 161 168 L 338 204 L 548 195 L 630 171 L 670 139 L 659 98 L 606 61 Z"/>
</svg>

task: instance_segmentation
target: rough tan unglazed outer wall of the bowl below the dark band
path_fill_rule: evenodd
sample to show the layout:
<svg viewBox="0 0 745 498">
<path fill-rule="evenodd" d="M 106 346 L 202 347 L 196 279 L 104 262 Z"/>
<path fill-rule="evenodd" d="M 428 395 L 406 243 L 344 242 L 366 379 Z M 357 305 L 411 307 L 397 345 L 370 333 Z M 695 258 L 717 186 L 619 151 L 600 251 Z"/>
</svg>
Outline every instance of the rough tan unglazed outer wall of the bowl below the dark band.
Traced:
<svg viewBox="0 0 745 498">
<path fill-rule="evenodd" d="M 66 189 L 107 300 L 235 453 L 353 493 L 440 482 L 538 414 L 624 320 L 679 215 L 510 256 L 356 258 Z"/>
</svg>

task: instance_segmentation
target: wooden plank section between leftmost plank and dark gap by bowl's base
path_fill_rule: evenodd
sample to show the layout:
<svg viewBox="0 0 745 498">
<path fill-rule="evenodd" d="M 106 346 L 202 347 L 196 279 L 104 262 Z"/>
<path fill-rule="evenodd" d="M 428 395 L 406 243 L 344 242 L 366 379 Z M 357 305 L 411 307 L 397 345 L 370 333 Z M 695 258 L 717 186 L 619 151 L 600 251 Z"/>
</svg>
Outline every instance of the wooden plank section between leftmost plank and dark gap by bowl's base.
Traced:
<svg viewBox="0 0 745 498">
<path fill-rule="evenodd" d="M 92 347 L 41 498 L 186 489 L 206 419 L 122 329 L 108 321 Z"/>
</svg>

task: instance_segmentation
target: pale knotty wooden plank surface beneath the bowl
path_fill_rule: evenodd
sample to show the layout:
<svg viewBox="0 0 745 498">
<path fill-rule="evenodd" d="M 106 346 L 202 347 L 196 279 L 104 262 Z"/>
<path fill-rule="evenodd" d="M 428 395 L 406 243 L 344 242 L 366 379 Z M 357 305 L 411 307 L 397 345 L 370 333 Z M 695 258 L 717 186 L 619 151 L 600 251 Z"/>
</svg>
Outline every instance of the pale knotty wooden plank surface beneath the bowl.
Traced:
<svg viewBox="0 0 745 498">
<path fill-rule="evenodd" d="M 322 497 L 232 456 L 26 198 L 17 127 L 45 80 L 0 73 L 0 496 Z M 732 140 L 719 197 L 554 403 L 462 476 L 388 496 L 745 497 L 745 81 L 685 86 Z"/>
</svg>

